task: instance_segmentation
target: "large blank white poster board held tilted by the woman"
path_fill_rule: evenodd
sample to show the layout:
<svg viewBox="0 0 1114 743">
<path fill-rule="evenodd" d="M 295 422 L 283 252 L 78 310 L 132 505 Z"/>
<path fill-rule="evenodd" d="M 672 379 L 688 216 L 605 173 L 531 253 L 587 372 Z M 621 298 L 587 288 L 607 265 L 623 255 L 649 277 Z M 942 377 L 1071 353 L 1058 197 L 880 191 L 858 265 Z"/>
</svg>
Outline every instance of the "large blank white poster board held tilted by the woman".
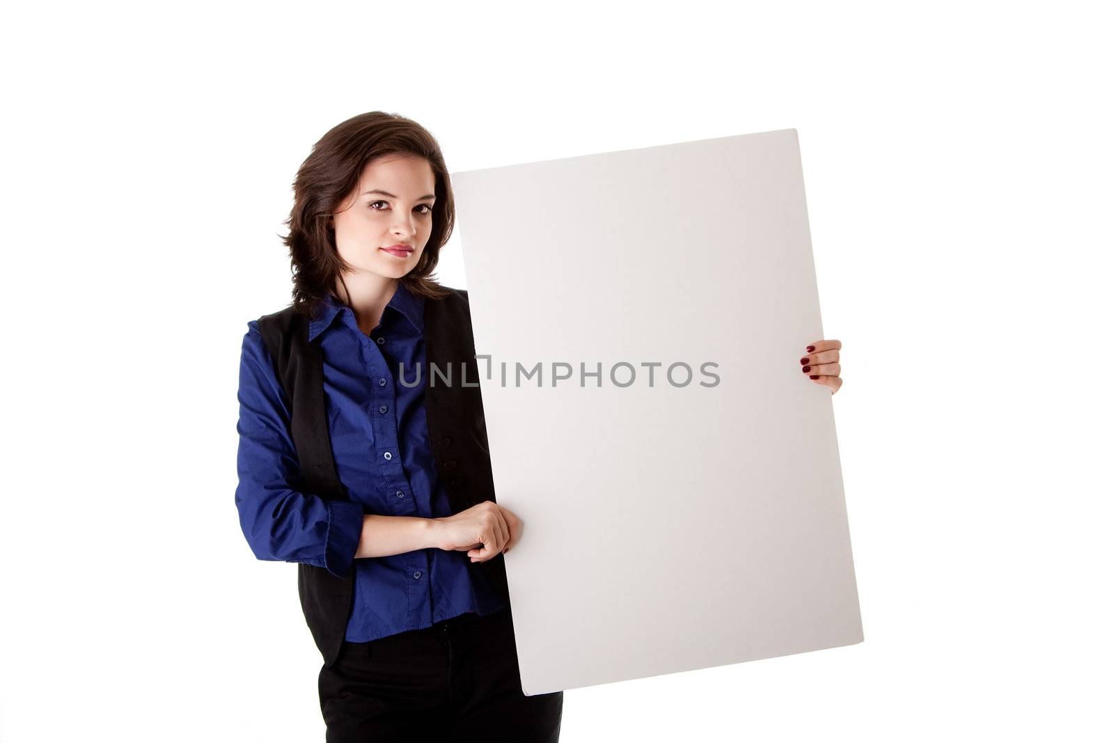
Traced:
<svg viewBox="0 0 1114 743">
<path fill-rule="evenodd" d="M 452 183 L 522 692 L 861 642 L 797 130 Z"/>
</svg>

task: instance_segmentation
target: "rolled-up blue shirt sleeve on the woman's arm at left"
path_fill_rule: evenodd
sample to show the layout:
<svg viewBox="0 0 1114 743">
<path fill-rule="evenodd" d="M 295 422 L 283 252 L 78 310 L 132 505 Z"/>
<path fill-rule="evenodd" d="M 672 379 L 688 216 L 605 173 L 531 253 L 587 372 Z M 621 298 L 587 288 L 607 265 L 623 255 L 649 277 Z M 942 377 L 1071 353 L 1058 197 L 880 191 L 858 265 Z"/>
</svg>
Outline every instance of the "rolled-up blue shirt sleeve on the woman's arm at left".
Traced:
<svg viewBox="0 0 1114 743">
<path fill-rule="evenodd" d="M 301 470 L 290 407 L 255 320 L 241 349 L 237 398 L 236 509 L 252 551 L 261 560 L 306 563 L 343 577 L 355 559 L 363 508 L 293 487 Z"/>
</svg>

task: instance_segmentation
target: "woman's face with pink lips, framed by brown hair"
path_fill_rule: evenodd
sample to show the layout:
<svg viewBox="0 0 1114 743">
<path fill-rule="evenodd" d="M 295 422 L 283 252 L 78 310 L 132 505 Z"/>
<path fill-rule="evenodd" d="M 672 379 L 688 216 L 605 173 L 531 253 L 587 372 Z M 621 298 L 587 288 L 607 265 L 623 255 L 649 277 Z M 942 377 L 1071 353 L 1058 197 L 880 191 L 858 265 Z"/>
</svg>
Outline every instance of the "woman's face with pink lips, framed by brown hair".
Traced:
<svg viewBox="0 0 1114 743">
<path fill-rule="evenodd" d="M 418 155 L 369 163 L 360 185 L 333 214 L 341 257 L 356 271 L 385 278 L 407 275 L 433 229 L 433 169 Z"/>
</svg>

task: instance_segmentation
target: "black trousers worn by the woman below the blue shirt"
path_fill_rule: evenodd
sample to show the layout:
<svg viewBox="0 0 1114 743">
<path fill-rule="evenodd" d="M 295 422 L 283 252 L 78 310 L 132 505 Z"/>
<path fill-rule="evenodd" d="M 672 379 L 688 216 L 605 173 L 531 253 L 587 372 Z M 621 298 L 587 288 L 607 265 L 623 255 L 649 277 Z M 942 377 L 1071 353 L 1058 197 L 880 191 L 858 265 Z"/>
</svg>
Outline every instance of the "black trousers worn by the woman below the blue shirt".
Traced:
<svg viewBox="0 0 1114 743">
<path fill-rule="evenodd" d="M 322 666 L 317 690 L 326 743 L 557 743 L 565 696 L 522 694 L 506 608 L 345 641 L 332 667 Z"/>
</svg>

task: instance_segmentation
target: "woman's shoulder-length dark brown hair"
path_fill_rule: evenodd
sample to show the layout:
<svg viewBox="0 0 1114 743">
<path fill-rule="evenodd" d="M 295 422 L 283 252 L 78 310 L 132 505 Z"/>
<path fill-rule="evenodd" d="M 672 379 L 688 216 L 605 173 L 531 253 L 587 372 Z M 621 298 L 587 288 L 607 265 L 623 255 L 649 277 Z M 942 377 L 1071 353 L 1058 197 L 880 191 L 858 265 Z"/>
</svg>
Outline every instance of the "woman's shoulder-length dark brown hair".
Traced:
<svg viewBox="0 0 1114 743">
<path fill-rule="evenodd" d="M 424 157 L 433 170 L 433 231 L 418 265 L 401 278 L 411 293 L 437 299 L 450 292 L 433 278 L 438 254 L 452 234 L 456 211 L 449 172 L 441 147 L 423 126 L 384 111 L 353 116 L 326 131 L 313 146 L 294 178 L 294 206 L 283 223 L 290 234 L 280 235 L 290 250 L 294 278 L 293 305 L 314 316 L 336 277 L 350 268 L 336 251 L 336 235 L 329 217 L 360 185 L 360 174 L 371 160 L 384 155 Z"/>
</svg>

